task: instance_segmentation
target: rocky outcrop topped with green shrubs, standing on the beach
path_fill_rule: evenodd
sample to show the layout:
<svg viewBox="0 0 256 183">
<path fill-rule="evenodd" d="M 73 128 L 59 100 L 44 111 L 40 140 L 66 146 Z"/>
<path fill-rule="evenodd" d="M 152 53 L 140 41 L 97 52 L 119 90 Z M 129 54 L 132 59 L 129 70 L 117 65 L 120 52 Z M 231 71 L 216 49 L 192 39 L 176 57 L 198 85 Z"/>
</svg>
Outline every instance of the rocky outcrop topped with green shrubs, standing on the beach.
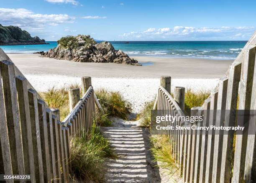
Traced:
<svg viewBox="0 0 256 183">
<path fill-rule="evenodd" d="M 41 53 L 43 57 L 75 62 L 123 63 L 141 65 L 121 50 L 115 50 L 106 41 L 96 43 L 90 35 L 67 36 L 58 40 L 58 46 L 48 52 Z"/>
</svg>

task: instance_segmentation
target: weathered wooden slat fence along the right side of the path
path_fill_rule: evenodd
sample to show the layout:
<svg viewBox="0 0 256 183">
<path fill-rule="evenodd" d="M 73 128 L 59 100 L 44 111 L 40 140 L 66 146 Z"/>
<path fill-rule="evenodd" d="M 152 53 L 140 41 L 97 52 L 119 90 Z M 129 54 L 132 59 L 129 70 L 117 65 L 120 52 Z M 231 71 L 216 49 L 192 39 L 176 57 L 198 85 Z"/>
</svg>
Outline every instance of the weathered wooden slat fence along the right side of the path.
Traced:
<svg viewBox="0 0 256 183">
<path fill-rule="evenodd" d="M 236 115 L 230 110 L 256 110 L 256 33 L 230 65 L 218 86 L 200 107 L 192 108 L 194 115 L 203 114 L 203 125 L 235 126 Z M 166 77 L 161 78 L 166 80 Z M 170 95 L 169 86 L 161 81 L 154 108 L 169 114 L 184 115 L 184 94 Z M 212 111 L 222 111 L 212 112 Z M 166 113 L 166 112 L 165 112 Z M 165 114 L 164 114 L 165 115 Z M 176 121 L 172 125 L 182 125 Z M 200 125 L 200 123 L 198 124 Z M 170 130 L 173 156 L 185 183 L 255 183 L 256 182 L 256 116 L 252 116 L 249 129 L 254 134 L 214 134 L 191 130 Z M 234 142 L 235 139 L 235 142 Z M 234 143 L 234 153 L 233 153 Z"/>
</svg>

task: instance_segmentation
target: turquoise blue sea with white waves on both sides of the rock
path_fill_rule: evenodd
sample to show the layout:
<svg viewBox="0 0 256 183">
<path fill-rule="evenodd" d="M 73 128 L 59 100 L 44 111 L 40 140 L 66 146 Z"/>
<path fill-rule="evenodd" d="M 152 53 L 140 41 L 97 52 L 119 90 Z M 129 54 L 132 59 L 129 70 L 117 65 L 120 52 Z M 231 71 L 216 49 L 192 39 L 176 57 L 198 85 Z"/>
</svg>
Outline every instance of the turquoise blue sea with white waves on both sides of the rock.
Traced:
<svg viewBox="0 0 256 183">
<path fill-rule="evenodd" d="M 247 41 L 110 41 L 115 50 L 123 50 L 130 56 L 157 56 L 175 58 L 207 58 L 233 60 Z M 57 46 L 49 45 L 0 46 L 5 53 L 35 53 Z"/>
</svg>

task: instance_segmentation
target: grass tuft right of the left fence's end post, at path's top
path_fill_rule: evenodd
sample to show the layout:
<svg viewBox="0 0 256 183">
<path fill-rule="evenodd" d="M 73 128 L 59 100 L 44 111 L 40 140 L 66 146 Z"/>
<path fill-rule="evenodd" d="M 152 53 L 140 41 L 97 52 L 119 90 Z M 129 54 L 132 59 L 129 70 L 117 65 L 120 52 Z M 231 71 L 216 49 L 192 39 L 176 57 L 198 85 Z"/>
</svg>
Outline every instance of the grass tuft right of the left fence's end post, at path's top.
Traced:
<svg viewBox="0 0 256 183">
<path fill-rule="evenodd" d="M 127 114 L 131 112 L 131 103 L 125 100 L 120 92 L 100 89 L 95 94 L 108 115 L 127 120 Z"/>
</svg>

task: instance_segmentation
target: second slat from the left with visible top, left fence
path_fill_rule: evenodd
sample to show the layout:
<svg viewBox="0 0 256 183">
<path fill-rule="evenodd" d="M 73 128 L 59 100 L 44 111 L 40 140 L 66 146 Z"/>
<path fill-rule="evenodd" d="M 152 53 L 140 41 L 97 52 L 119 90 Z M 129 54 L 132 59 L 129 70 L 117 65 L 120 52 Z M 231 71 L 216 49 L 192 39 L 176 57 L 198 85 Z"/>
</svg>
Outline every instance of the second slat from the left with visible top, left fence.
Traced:
<svg viewBox="0 0 256 183">
<path fill-rule="evenodd" d="M 22 76 L 16 77 L 25 173 L 31 175 L 31 182 L 35 182 L 35 167 L 27 82 L 28 81 L 26 80 L 26 78 Z"/>
</svg>

